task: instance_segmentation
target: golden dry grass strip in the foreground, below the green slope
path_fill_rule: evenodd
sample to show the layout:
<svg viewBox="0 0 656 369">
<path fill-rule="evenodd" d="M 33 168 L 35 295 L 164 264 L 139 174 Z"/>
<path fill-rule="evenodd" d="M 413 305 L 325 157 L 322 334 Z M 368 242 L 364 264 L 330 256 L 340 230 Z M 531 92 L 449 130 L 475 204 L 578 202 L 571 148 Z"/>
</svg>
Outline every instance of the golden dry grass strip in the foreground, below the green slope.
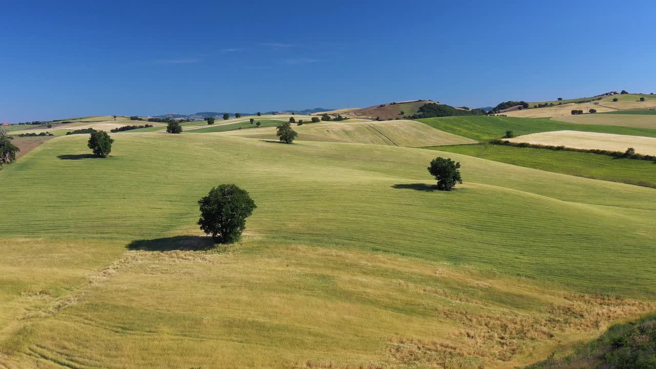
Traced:
<svg viewBox="0 0 656 369">
<path fill-rule="evenodd" d="M 512 368 L 655 308 L 304 242 L 144 247 L 1 241 L 12 290 L 2 296 L 0 365 Z M 35 257 L 27 269 L 26 255 Z"/>
</svg>

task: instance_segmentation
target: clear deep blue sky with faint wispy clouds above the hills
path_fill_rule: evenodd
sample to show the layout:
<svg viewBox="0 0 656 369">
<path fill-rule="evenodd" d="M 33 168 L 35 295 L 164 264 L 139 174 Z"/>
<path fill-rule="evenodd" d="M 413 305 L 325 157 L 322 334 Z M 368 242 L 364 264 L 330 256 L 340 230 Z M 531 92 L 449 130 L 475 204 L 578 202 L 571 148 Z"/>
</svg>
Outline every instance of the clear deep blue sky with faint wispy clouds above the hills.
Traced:
<svg viewBox="0 0 656 369">
<path fill-rule="evenodd" d="M 0 122 L 656 92 L 651 1 L 7 1 Z"/>
</svg>

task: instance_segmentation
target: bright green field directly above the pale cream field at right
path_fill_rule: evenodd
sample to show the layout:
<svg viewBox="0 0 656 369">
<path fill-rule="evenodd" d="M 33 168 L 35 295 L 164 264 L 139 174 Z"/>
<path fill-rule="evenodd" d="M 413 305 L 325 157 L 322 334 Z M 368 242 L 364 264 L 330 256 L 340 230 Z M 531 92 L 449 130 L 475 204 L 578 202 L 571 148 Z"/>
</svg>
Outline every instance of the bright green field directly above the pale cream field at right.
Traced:
<svg viewBox="0 0 656 369">
<path fill-rule="evenodd" d="M 499 139 L 506 134 L 507 130 L 516 135 L 527 135 L 529 133 L 545 131 L 583 131 L 613 133 L 617 135 L 632 135 L 656 137 L 656 129 L 637 127 L 615 127 L 611 125 L 586 125 L 565 123 L 545 118 L 512 118 L 512 117 L 447 117 L 419 119 L 431 127 L 469 137 L 476 141 L 489 141 Z"/>
</svg>

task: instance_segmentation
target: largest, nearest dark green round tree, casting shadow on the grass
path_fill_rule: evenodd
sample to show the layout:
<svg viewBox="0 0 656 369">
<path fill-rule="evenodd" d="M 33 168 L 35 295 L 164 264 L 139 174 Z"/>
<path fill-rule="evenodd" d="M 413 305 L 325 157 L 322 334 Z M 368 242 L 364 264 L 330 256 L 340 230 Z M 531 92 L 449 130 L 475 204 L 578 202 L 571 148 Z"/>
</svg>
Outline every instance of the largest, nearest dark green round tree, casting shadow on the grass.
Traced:
<svg viewBox="0 0 656 369">
<path fill-rule="evenodd" d="M 198 200 L 201 217 L 198 225 L 220 244 L 239 240 L 246 228 L 246 218 L 257 207 L 246 190 L 236 185 L 219 185 Z"/>
</svg>

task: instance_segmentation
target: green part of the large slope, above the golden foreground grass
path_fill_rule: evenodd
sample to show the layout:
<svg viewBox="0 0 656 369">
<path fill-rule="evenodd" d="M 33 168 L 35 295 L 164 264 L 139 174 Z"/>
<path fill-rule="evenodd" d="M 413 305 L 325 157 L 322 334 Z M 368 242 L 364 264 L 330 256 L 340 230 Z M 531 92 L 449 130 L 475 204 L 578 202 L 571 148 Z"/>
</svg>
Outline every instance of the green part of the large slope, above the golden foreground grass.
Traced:
<svg viewBox="0 0 656 369">
<path fill-rule="evenodd" d="M 629 257 L 632 253 L 646 251 L 644 247 L 652 244 L 654 237 L 628 231 L 640 228 L 641 217 L 653 211 L 650 188 L 559 177 L 554 173 L 458 154 L 450 155 L 463 163 L 463 177 L 468 184 L 460 191 L 444 194 L 417 191 L 422 187 L 413 185 L 432 182 L 425 167 L 439 154 L 433 150 L 327 142 L 285 145 L 222 135 L 134 134 L 121 135 L 115 142 L 112 157 L 107 160 L 70 160 L 88 151 L 86 139 L 82 136 L 52 139 L 35 149 L 30 160 L 19 160 L 3 169 L 1 177 L 6 193 L 14 193 L 12 188 L 22 190 L 16 191 L 20 193 L 17 198 L 12 196 L 0 220 L 10 222 L 18 209 L 22 209 L 23 213 L 30 214 L 31 221 L 3 227 L 0 236 L 134 240 L 179 232 L 195 234 L 195 200 L 217 182 L 234 181 L 251 190 L 260 204 L 249 227 L 254 234 L 331 240 L 332 243 L 380 248 L 426 259 L 446 258 L 495 265 L 513 274 L 521 271 L 520 274 L 563 281 L 571 281 L 573 275 L 582 272 L 580 265 L 571 264 L 575 259 L 571 255 L 567 261 L 554 263 L 555 269 L 549 272 L 538 265 L 527 267 L 522 260 L 509 256 L 528 252 L 541 255 L 545 260 L 560 259 L 560 248 L 577 245 L 577 250 L 581 250 L 583 240 L 585 244 L 597 240 L 594 242 L 597 248 L 613 245 L 607 250 L 610 253 L 616 250 L 618 242 L 626 244 L 626 250 L 632 251 L 622 257 Z M 194 147 L 194 150 L 185 147 Z M 178 155 L 165 154 L 172 150 Z M 221 161 L 216 162 L 215 158 Z M 220 171 L 213 170 L 218 166 L 222 168 Z M 46 180 L 53 177 L 53 173 L 58 173 L 58 186 L 50 186 Z M 134 173 L 140 173 L 139 189 L 130 190 L 134 186 Z M 162 173 L 166 173 L 165 177 Z M 266 187 L 258 185 L 264 173 L 268 179 Z M 194 181 L 180 192 L 180 185 L 167 182 L 167 176 L 194 178 Z M 554 182 L 556 178 L 558 181 Z M 280 194 L 270 191 L 272 187 L 289 188 L 291 198 L 285 209 L 286 217 L 279 217 L 279 208 L 274 205 Z M 140 188 L 148 188 L 148 191 Z M 27 189 L 31 196 L 22 196 Z M 497 191 L 501 191 L 497 194 L 499 197 L 493 195 Z M 72 192 L 75 196 L 68 200 L 66 194 Z M 105 196 L 98 198 L 97 194 Z M 306 197 L 309 194 L 312 196 Z M 382 202 L 380 196 L 389 200 Z M 304 201 L 295 203 L 292 200 L 295 198 Z M 391 199 L 396 200 L 392 202 Z M 510 199 L 514 199 L 512 203 L 521 217 L 511 212 L 490 219 L 478 210 L 480 201 L 495 208 L 495 204 L 508 204 Z M 388 207 L 391 203 L 396 204 L 394 209 Z M 351 209 L 352 204 L 361 205 Z M 617 209 L 609 213 L 607 206 Z M 318 208 L 327 211 L 317 213 L 315 209 Z M 544 209 L 550 209 L 550 213 L 544 213 Z M 403 211 L 410 211 L 413 216 L 396 217 Z M 450 214 L 449 221 L 434 224 L 431 219 L 445 211 Z M 333 217 L 336 213 L 340 214 L 338 231 L 334 223 L 337 219 Z M 385 214 L 391 218 L 386 219 Z M 569 220 L 572 216 L 581 219 L 585 227 L 572 224 Z M 542 219 L 539 226 L 533 217 Z M 627 223 L 629 218 L 632 221 Z M 353 222 L 354 219 L 358 221 Z M 104 227 L 98 228 L 99 223 Z M 41 227 L 43 224 L 47 227 Z M 441 227 L 453 228 L 453 231 L 464 227 L 477 232 L 455 236 L 452 231 L 442 232 Z M 519 228 L 511 231 L 506 227 Z M 621 238 L 616 227 L 626 228 Z M 507 232 L 515 236 L 509 239 Z M 550 240 L 550 245 L 558 244 L 558 248 L 539 244 L 543 236 Z M 448 240 L 449 246 L 441 244 L 440 240 Z M 468 247 L 472 242 L 478 246 Z M 533 244 L 531 250 L 525 249 L 527 243 Z M 502 255 L 499 250 L 504 250 Z M 599 250 L 597 262 L 602 262 L 606 256 Z M 594 257 L 592 260 L 589 256 L 586 258 L 590 267 L 595 266 Z M 631 257 L 626 262 L 636 263 L 635 260 Z M 602 283 L 604 278 L 592 278 L 607 274 L 609 269 L 586 271 L 590 273 L 586 274 L 588 276 L 577 278 L 583 278 L 582 285 L 603 284 L 630 289 L 646 287 L 653 282 L 652 276 L 645 276 L 640 282 L 628 283 L 632 278 L 626 279 L 623 275 L 629 269 L 632 273 L 638 272 L 640 267 L 622 267 L 619 259 L 615 259 L 615 267 L 609 267 L 619 269 L 616 274 L 607 276 L 612 283 Z"/>
</svg>

